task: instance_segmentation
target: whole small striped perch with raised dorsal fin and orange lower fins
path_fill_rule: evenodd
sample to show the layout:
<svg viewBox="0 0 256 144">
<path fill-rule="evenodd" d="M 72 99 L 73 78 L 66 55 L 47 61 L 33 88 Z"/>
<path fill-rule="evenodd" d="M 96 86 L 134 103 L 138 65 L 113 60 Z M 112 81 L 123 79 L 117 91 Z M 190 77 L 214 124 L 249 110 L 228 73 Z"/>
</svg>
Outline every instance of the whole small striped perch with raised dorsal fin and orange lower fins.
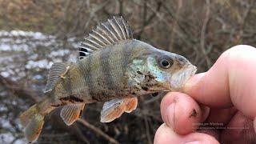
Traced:
<svg viewBox="0 0 256 144">
<path fill-rule="evenodd" d="M 135 110 L 140 96 L 182 91 L 197 70 L 182 55 L 134 39 L 122 17 L 98 24 L 78 47 L 78 62 L 54 63 L 44 98 L 20 115 L 29 142 L 38 139 L 46 115 L 59 106 L 70 126 L 86 104 L 104 102 L 100 121 L 112 122 Z"/>
</svg>

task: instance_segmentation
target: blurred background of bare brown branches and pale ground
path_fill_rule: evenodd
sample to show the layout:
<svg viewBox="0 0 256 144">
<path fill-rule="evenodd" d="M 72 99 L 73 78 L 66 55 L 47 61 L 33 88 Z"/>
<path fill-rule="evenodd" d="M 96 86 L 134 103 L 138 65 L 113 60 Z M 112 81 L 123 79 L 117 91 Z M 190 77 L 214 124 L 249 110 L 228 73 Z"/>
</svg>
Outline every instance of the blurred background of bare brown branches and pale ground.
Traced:
<svg viewBox="0 0 256 144">
<path fill-rule="evenodd" d="M 122 15 L 134 38 L 182 54 L 206 71 L 231 46 L 256 46 L 254 0 L 0 0 L 0 143 L 26 143 L 18 115 L 42 98 L 53 62 L 76 62 L 78 45 L 98 22 Z M 149 143 L 162 124 L 162 96 L 100 122 L 102 102 L 66 126 L 55 110 L 37 143 Z"/>
</svg>

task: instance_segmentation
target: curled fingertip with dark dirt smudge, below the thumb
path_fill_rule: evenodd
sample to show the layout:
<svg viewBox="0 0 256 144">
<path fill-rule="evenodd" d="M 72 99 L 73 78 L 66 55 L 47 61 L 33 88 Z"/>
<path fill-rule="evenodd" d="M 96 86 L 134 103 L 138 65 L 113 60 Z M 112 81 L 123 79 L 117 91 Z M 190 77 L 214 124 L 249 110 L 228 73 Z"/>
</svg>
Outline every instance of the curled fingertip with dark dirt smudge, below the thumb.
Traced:
<svg viewBox="0 0 256 144">
<path fill-rule="evenodd" d="M 190 96 L 170 92 L 162 98 L 162 120 L 177 134 L 189 134 L 198 129 L 202 121 L 202 110 Z"/>
</svg>

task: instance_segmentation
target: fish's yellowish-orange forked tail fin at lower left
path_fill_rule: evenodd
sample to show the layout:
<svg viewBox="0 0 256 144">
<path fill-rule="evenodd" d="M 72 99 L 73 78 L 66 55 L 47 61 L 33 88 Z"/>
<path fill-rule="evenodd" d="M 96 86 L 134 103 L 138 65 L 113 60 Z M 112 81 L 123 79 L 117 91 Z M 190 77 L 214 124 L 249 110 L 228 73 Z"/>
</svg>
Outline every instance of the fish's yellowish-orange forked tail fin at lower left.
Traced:
<svg viewBox="0 0 256 144">
<path fill-rule="evenodd" d="M 29 142 L 34 142 L 41 134 L 44 118 L 54 107 L 50 106 L 49 98 L 45 97 L 41 102 L 31 106 L 20 115 L 20 122 L 25 127 L 24 134 Z"/>
</svg>

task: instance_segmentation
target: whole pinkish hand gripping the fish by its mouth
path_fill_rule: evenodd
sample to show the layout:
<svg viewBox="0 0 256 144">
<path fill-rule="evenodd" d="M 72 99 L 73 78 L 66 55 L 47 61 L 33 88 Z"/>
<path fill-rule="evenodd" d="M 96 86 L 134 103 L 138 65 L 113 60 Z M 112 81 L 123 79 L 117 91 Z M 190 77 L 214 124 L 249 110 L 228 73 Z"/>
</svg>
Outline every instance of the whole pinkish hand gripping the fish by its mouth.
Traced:
<svg viewBox="0 0 256 144">
<path fill-rule="evenodd" d="M 256 143 L 256 49 L 234 46 L 162 98 L 154 144 Z"/>
</svg>

